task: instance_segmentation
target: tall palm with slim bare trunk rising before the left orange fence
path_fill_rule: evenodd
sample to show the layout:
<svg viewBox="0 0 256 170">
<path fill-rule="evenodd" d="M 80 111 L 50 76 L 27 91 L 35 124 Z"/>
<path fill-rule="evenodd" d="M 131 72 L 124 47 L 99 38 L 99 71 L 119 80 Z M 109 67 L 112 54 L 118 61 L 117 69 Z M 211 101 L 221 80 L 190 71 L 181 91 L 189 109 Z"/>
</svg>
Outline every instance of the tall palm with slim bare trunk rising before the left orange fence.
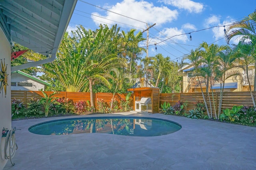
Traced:
<svg viewBox="0 0 256 170">
<path fill-rule="evenodd" d="M 113 25 L 111 29 L 107 25 L 100 25 L 96 31 L 87 31 L 82 26 L 77 30 L 78 35 L 82 35 L 80 41 L 83 47 L 83 56 L 88 58 L 89 63 L 94 63 L 89 69 L 84 70 L 89 81 L 90 100 L 93 101 L 94 82 L 103 83 L 109 89 L 111 84 L 108 82 L 106 71 L 112 66 L 123 64 L 125 61 L 118 57 L 118 35 L 119 28 Z M 88 35 L 88 36 L 86 36 Z M 88 63 L 88 64 L 89 64 Z M 88 88 L 84 88 L 87 91 Z M 91 102 L 91 106 L 94 106 Z"/>
</svg>

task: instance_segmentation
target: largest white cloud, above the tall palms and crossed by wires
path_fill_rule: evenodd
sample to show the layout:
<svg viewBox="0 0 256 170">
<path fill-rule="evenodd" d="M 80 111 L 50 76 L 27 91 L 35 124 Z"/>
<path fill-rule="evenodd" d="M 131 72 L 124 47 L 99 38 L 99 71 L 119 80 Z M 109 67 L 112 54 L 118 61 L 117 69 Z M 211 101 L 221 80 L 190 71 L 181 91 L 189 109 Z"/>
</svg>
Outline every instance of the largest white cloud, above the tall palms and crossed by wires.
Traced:
<svg viewBox="0 0 256 170">
<path fill-rule="evenodd" d="M 116 23 L 115 21 L 118 21 L 120 23 L 117 23 L 117 24 L 118 26 L 121 26 L 121 27 L 125 24 L 128 24 L 128 25 L 145 29 L 146 23 L 150 23 L 150 24 L 157 23 L 157 25 L 159 26 L 161 24 L 176 20 L 178 16 L 177 10 L 170 10 L 166 6 L 156 7 L 154 6 L 153 3 L 149 3 L 146 1 L 138 2 L 136 0 L 123 0 L 122 2 L 116 3 L 116 5 L 107 9 L 112 12 L 122 14 L 123 16 L 114 14 L 109 11 L 106 12 L 105 16 L 100 15 L 97 12 L 94 12 L 92 14 L 96 16 L 92 16 L 92 19 L 94 19 L 94 23 L 97 26 L 100 25 L 100 23 L 102 24 L 108 23 L 110 25 L 114 25 Z M 100 16 L 101 18 L 97 16 Z M 124 16 L 128 16 L 130 18 L 134 18 L 136 20 L 140 20 L 145 23 L 132 20 Z M 127 27 L 127 25 L 125 25 L 125 27 Z"/>
</svg>

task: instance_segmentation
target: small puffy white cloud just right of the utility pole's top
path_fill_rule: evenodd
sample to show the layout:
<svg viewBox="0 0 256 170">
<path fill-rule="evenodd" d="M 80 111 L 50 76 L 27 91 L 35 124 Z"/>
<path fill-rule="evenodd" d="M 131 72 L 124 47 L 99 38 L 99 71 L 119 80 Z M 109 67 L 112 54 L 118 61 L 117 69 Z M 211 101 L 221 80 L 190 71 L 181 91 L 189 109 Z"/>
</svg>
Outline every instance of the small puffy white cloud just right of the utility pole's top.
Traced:
<svg viewBox="0 0 256 170">
<path fill-rule="evenodd" d="M 177 27 L 174 28 L 164 28 L 161 31 L 164 35 L 166 35 L 167 37 L 171 37 L 168 41 L 176 41 L 176 42 L 183 42 L 185 43 L 186 41 L 188 41 L 188 35 L 180 35 L 180 34 L 184 34 L 185 32 L 182 29 L 178 29 Z M 161 34 L 159 34 L 159 36 L 162 36 Z M 174 37 L 172 37 L 174 36 Z M 167 39 L 167 38 L 164 38 Z M 166 41 L 167 42 L 167 41 Z"/>
</svg>

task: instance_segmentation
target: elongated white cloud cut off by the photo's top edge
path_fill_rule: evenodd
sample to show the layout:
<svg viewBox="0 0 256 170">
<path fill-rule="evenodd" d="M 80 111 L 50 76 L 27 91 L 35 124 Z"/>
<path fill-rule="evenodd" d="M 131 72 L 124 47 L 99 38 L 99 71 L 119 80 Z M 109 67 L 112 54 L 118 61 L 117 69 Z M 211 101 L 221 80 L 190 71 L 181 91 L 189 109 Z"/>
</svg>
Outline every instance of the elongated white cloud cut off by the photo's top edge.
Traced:
<svg viewBox="0 0 256 170">
<path fill-rule="evenodd" d="M 204 10 L 204 5 L 199 2 L 194 2 L 192 0 L 159 0 L 158 2 L 163 2 L 167 5 L 175 6 L 179 9 L 188 10 L 190 13 L 200 13 Z"/>
</svg>

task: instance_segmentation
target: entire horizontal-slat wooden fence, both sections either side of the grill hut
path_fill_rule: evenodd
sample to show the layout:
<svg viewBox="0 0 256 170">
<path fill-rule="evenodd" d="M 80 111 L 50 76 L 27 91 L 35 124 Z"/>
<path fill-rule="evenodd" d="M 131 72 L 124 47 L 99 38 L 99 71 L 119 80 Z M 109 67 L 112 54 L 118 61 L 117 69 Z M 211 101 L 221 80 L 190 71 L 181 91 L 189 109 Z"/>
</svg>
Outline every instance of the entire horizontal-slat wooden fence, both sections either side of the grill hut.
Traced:
<svg viewBox="0 0 256 170">
<path fill-rule="evenodd" d="M 22 91 L 22 90 L 12 90 L 12 99 L 16 98 L 18 100 L 21 100 L 24 102 L 25 105 L 30 101 L 32 97 L 34 98 L 42 98 L 43 94 L 41 91 Z M 52 94 L 53 92 L 46 92 L 46 94 Z M 252 92 L 254 96 L 254 100 L 256 98 L 256 92 Z M 96 107 L 96 99 L 102 98 L 105 102 L 108 104 L 110 103 L 112 99 L 112 93 L 94 93 L 94 106 Z M 208 96 L 206 93 L 204 93 L 204 96 L 206 97 L 208 108 L 210 109 L 210 104 L 208 100 Z M 213 93 L 214 101 L 212 100 L 212 93 L 210 93 L 211 102 L 212 102 L 212 112 L 214 113 L 214 104 L 216 110 L 218 110 L 218 105 L 220 101 L 220 92 L 214 92 Z M 69 98 L 70 100 L 73 100 L 73 102 L 78 101 L 90 101 L 90 93 L 89 92 L 59 92 L 59 94 L 55 94 L 54 97 L 56 98 Z M 116 94 L 115 98 L 117 100 L 121 100 L 121 98 L 125 99 L 126 94 Z M 132 98 L 131 98 L 132 99 Z M 133 100 L 133 99 L 132 99 Z M 201 100 L 203 101 L 202 93 L 161 93 L 160 94 L 160 109 L 161 104 L 164 102 L 169 102 L 171 106 L 173 106 L 178 100 L 186 102 L 187 103 L 187 109 L 194 109 L 196 101 Z M 131 101 L 131 104 L 133 101 Z M 222 110 L 229 108 L 231 109 L 233 106 L 240 106 L 240 105 L 250 105 L 252 104 L 252 98 L 250 96 L 250 92 L 224 92 L 223 93 L 223 100 L 222 100 Z"/>
</svg>

